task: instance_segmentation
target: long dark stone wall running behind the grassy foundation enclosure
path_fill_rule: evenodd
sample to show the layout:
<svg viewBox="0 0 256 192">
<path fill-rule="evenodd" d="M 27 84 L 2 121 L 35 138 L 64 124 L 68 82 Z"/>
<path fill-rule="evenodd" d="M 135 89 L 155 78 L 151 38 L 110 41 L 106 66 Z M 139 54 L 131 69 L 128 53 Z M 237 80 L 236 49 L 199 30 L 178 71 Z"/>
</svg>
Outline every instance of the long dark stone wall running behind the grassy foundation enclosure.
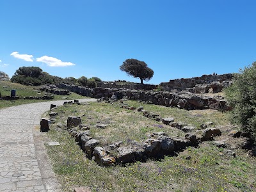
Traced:
<svg viewBox="0 0 256 192">
<path fill-rule="evenodd" d="M 221 97 L 200 96 L 194 93 L 185 92 L 153 92 L 143 90 L 125 90 L 120 88 L 85 88 L 83 86 L 69 86 L 67 84 L 58 84 L 58 87 L 70 90 L 80 95 L 100 99 L 101 97 L 110 98 L 115 95 L 117 99 L 142 100 L 144 102 L 157 104 L 166 107 L 177 107 L 180 109 L 217 109 L 228 111 L 231 108 Z"/>
</svg>

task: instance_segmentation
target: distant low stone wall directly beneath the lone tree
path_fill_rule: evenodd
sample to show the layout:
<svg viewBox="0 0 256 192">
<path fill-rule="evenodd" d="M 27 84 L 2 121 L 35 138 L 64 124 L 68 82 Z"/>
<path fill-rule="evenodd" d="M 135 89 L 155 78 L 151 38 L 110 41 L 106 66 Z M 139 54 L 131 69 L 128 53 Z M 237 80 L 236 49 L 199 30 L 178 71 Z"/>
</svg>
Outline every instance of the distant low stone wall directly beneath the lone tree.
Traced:
<svg viewBox="0 0 256 192">
<path fill-rule="evenodd" d="M 101 88 L 122 88 L 122 89 L 131 89 L 131 90 L 154 90 L 156 85 L 154 84 L 140 84 L 140 83 L 116 83 L 116 82 L 100 82 L 97 83 L 97 87 Z"/>
</svg>

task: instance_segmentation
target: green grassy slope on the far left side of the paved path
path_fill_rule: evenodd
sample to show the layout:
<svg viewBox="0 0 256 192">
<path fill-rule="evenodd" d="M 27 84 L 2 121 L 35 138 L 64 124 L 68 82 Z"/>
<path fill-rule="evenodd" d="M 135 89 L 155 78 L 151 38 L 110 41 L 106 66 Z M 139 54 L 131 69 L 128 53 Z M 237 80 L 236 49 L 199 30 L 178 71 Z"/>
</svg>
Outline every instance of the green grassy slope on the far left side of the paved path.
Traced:
<svg viewBox="0 0 256 192">
<path fill-rule="evenodd" d="M 40 92 L 39 86 L 25 86 L 19 83 L 11 83 L 10 81 L 0 81 L 0 93 L 2 97 L 10 95 L 11 90 L 16 90 L 16 95 L 19 97 L 29 96 L 44 96 L 44 92 Z M 84 99 L 85 97 L 72 93 L 71 95 L 54 95 L 53 100 L 62 99 Z M 20 104 L 27 104 L 32 102 L 44 102 L 46 100 L 33 100 L 33 99 L 17 99 L 17 100 L 0 100 L 0 109 L 10 106 L 17 106 Z"/>
</svg>

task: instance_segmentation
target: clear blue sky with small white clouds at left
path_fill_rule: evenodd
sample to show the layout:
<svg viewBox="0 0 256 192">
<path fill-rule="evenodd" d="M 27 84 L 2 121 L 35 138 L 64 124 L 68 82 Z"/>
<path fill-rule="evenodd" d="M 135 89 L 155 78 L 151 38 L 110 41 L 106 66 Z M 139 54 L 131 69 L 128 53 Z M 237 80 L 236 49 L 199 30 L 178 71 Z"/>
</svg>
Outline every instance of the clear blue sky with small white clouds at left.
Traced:
<svg viewBox="0 0 256 192">
<path fill-rule="evenodd" d="M 148 83 L 238 72 L 256 61 L 255 0 L 0 0 L 0 70 L 140 79 L 128 58 L 154 70 Z"/>
</svg>

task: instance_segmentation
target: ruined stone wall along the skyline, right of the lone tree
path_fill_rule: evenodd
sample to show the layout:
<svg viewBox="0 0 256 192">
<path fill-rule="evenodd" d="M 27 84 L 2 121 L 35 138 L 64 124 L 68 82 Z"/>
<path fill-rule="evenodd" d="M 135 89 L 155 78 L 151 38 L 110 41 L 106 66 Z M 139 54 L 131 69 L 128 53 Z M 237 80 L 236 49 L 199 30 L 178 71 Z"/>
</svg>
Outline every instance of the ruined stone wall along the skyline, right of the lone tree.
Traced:
<svg viewBox="0 0 256 192">
<path fill-rule="evenodd" d="M 194 88 L 196 84 L 211 84 L 213 82 L 223 83 L 224 81 L 231 81 L 232 74 L 223 74 L 223 75 L 204 75 L 201 77 L 192 77 L 187 79 L 173 79 L 167 83 L 161 83 L 161 87 L 164 91 L 172 90 L 186 90 L 187 88 Z"/>
</svg>

